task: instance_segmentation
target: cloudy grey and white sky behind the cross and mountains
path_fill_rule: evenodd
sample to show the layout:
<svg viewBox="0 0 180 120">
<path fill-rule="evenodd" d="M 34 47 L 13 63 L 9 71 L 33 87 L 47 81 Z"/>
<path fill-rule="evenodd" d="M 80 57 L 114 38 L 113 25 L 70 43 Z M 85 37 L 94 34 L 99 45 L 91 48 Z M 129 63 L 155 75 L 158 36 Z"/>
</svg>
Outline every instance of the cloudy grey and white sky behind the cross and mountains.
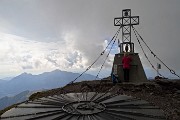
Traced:
<svg viewBox="0 0 180 120">
<path fill-rule="evenodd" d="M 118 30 L 114 18 L 121 17 L 123 9 L 140 16 L 136 30 L 153 52 L 180 75 L 179 5 L 179 0 L 0 0 L 0 78 L 55 69 L 84 71 Z M 147 75 L 155 76 L 132 37 Z M 158 61 L 145 51 L 156 66 Z M 118 47 L 113 47 L 101 76 L 109 76 L 118 52 Z M 103 60 L 90 73 L 97 73 Z M 170 76 L 166 67 L 162 66 L 160 72 Z"/>
</svg>

